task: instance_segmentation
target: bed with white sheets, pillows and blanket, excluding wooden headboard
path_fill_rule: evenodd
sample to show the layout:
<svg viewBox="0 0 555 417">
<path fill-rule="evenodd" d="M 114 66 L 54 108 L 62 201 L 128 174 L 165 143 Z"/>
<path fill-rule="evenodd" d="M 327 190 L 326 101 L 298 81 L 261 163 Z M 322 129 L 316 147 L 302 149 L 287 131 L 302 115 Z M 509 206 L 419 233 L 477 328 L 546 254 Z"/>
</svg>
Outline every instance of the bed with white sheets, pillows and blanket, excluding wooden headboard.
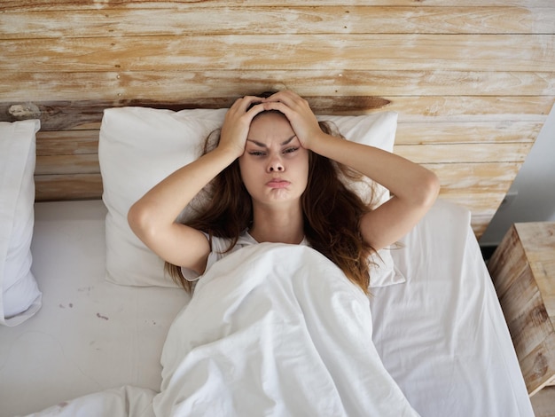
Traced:
<svg viewBox="0 0 555 417">
<path fill-rule="evenodd" d="M 533 415 L 470 211 L 449 201 L 380 251 L 370 296 L 313 249 L 269 243 L 218 261 L 192 298 L 175 287 L 127 211 L 199 156 L 225 112 L 106 109 L 101 201 L 34 202 L 40 121 L 0 125 L 3 144 L 15 144 L 4 159 L 25 167 L 19 177 L 3 168 L 20 185 L 3 186 L 15 241 L 5 264 L 31 233 L 18 283 L 37 284 L 0 327 L 3 413 Z M 393 151 L 395 112 L 319 117 Z M 363 198 L 374 190 L 375 204 L 388 198 L 379 185 L 348 185 Z M 214 198 L 206 193 L 181 216 Z"/>
</svg>

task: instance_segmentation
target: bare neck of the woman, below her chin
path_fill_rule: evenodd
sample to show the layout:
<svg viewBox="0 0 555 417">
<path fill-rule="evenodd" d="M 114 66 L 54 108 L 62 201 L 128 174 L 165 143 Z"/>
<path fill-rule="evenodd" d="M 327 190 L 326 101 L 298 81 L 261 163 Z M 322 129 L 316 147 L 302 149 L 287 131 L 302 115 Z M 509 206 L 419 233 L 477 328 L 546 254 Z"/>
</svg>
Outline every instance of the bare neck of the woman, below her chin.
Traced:
<svg viewBox="0 0 555 417">
<path fill-rule="evenodd" d="M 254 208 L 253 225 L 248 231 L 257 242 L 298 244 L 304 239 L 303 216 L 298 209 Z"/>
</svg>

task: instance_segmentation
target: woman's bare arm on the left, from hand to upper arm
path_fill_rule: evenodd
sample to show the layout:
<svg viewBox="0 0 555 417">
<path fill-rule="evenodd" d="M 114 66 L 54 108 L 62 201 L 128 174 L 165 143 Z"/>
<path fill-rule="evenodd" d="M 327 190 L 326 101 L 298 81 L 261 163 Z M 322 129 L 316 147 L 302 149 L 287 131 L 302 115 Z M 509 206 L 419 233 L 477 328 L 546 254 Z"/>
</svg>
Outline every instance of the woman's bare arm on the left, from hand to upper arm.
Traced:
<svg viewBox="0 0 555 417">
<path fill-rule="evenodd" d="M 245 151 L 250 122 L 263 107 L 246 109 L 260 101 L 261 98 L 239 98 L 225 116 L 220 142 L 215 150 L 177 169 L 129 209 L 131 230 L 170 264 L 204 272 L 210 252 L 206 236 L 192 227 L 177 223 L 176 217 L 208 182 Z"/>
</svg>

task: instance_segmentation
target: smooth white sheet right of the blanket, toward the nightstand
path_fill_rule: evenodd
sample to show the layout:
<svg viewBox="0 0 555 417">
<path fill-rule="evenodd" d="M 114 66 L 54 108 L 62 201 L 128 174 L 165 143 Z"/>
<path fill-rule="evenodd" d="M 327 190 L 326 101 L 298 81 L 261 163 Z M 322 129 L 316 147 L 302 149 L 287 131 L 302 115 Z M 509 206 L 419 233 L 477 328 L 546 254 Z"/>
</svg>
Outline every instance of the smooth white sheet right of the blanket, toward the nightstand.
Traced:
<svg viewBox="0 0 555 417">
<path fill-rule="evenodd" d="M 421 415 L 533 416 L 470 212 L 437 201 L 394 250 L 403 285 L 376 288 L 373 340 Z M 433 406 L 431 406 L 433 404 Z"/>
</svg>

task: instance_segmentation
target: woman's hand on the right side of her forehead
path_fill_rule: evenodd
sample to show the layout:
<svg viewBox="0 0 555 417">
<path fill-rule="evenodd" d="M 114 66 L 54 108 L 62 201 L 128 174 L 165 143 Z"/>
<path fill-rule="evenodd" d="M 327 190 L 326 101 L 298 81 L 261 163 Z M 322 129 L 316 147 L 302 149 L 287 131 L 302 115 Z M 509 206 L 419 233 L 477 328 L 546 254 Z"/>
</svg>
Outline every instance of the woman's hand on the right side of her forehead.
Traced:
<svg viewBox="0 0 555 417">
<path fill-rule="evenodd" d="M 278 110 L 285 114 L 291 123 L 301 146 L 311 149 L 311 143 L 318 135 L 324 134 L 318 125 L 317 117 L 312 112 L 309 102 L 291 90 L 279 91 L 262 103 L 265 110 Z"/>
</svg>

